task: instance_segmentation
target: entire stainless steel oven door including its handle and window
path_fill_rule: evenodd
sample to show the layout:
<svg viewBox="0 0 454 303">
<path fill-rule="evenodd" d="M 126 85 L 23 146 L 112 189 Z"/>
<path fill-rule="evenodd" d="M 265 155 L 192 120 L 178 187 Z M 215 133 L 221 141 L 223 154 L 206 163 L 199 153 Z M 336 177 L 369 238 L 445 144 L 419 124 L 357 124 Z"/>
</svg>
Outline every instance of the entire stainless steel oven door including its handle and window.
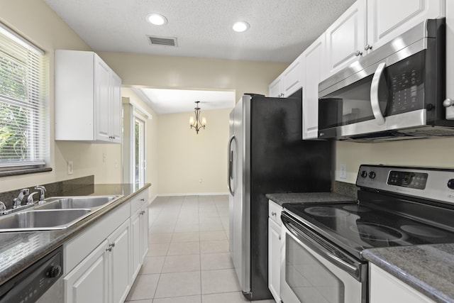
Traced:
<svg viewBox="0 0 454 303">
<path fill-rule="evenodd" d="M 366 303 L 367 263 L 346 255 L 282 213 L 284 303 Z"/>
</svg>

